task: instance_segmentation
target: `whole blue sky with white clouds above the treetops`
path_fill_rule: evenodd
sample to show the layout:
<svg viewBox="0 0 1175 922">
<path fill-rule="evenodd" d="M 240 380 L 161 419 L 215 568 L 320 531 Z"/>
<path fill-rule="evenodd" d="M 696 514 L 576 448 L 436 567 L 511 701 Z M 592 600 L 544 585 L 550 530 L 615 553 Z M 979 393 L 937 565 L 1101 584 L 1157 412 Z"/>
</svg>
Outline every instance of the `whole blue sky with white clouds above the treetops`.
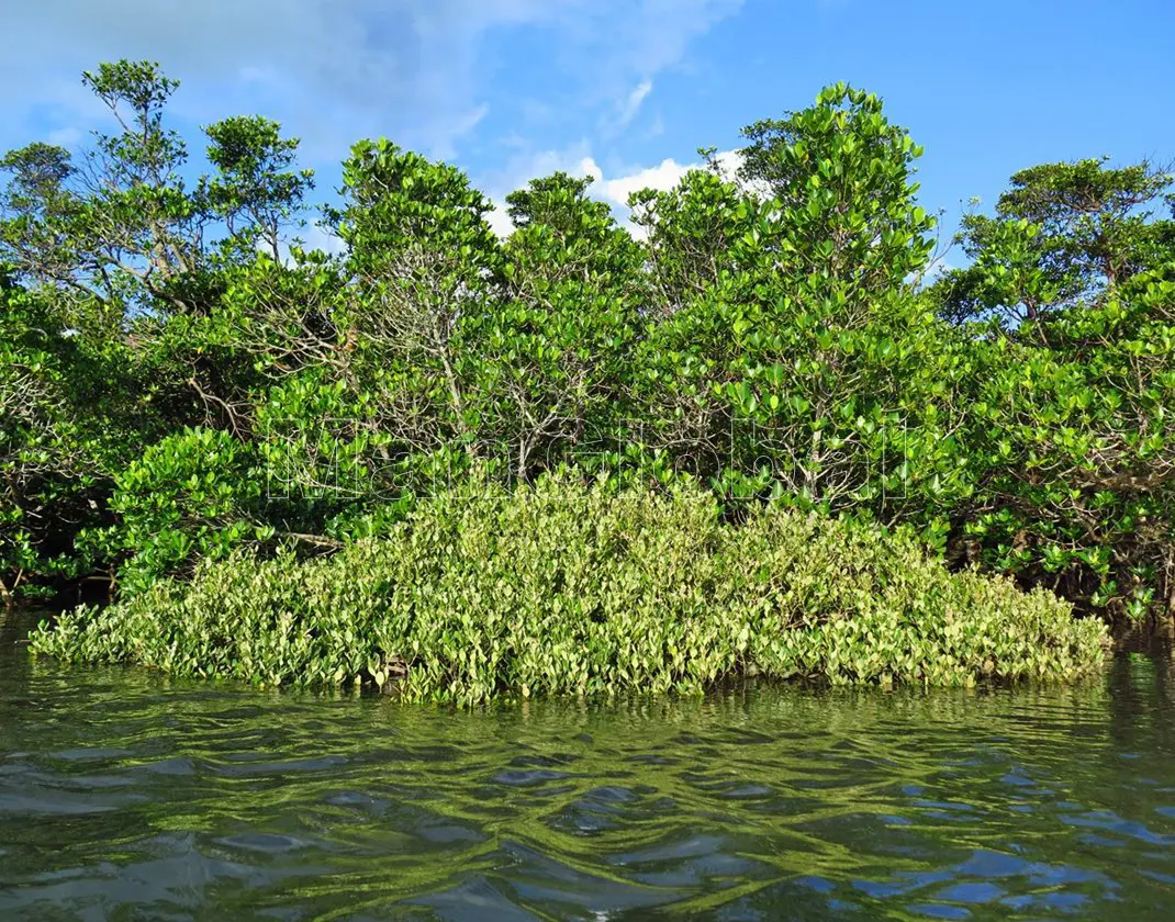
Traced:
<svg viewBox="0 0 1175 922">
<path fill-rule="evenodd" d="M 989 208 L 1018 169 L 1175 161 L 1175 0 L 4 0 L 0 150 L 85 146 L 83 69 L 152 59 L 174 126 L 261 114 L 302 139 L 320 198 L 352 142 L 456 163 L 501 202 L 592 175 L 623 218 L 697 148 L 845 81 L 925 147 L 920 200 Z M 504 211 L 497 216 L 498 226 Z M 314 241 L 311 241 L 314 243 Z M 949 256 L 948 256 L 949 258 Z"/>
</svg>

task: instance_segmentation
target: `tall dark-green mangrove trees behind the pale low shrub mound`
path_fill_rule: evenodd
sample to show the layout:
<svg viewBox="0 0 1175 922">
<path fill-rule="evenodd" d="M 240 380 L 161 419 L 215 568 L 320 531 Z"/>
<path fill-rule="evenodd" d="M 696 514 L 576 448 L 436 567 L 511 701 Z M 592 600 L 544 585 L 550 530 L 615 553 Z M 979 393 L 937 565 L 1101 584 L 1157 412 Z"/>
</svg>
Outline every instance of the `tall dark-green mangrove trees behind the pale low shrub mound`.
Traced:
<svg viewBox="0 0 1175 922">
<path fill-rule="evenodd" d="M 459 170 L 362 141 L 330 255 L 290 245 L 313 176 L 277 124 L 208 126 L 193 179 L 174 81 L 85 81 L 113 134 L 0 160 L 5 597 L 107 579 L 127 618 L 203 560 L 343 572 L 471 470 L 566 467 L 691 478 L 731 520 L 906 526 L 1109 620 L 1175 611 L 1175 221 L 1148 163 L 1016 174 L 932 277 L 921 150 L 834 86 L 745 128 L 736 173 L 633 195 L 638 236 L 556 174 L 502 238 Z M 201 572 L 184 604 L 237 579 Z"/>
</svg>

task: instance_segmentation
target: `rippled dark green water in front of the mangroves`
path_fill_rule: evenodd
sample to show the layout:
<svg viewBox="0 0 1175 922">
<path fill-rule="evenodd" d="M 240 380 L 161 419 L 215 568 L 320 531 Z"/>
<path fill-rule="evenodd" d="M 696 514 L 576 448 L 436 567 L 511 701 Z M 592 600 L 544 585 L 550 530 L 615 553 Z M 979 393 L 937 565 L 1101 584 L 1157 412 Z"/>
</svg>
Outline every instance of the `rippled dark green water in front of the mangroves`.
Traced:
<svg viewBox="0 0 1175 922">
<path fill-rule="evenodd" d="M 2 920 L 1175 918 L 1169 658 L 452 713 L 29 664 L 15 633 Z"/>
</svg>

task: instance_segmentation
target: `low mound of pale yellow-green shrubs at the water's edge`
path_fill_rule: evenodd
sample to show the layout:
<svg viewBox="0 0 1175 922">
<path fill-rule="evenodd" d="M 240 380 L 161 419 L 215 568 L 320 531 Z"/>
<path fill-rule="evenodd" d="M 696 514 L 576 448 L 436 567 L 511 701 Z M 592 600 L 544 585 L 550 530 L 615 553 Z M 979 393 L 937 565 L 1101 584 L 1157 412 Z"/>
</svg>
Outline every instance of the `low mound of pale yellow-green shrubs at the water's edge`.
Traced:
<svg viewBox="0 0 1175 922">
<path fill-rule="evenodd" d="M 730 525 L 700 490 L 564 478 L 443 493 L 329 558 L 237 552 L 190 584 L 76 610 L 32 644 L 86 664 L 474 704 L 747 674 L 1073 679 L 1102 662 L 1104 639 L 1052 593 L 952 574 L 909 534 L 778 507 Z"/>
</svg>

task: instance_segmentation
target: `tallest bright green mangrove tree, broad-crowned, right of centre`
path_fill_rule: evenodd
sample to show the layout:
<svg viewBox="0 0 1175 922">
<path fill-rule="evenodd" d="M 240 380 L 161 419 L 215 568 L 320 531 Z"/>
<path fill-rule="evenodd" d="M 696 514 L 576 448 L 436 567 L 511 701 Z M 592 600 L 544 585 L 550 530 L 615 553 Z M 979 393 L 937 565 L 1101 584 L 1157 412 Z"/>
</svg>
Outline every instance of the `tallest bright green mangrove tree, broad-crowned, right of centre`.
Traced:
<svg viewBox="0 0 1175 922">
<path fill-rule="evenodd" d="M 929 251 L 919 150 L 845 87 L 746 135 L 753 194 L 694 173 L 634 200 L 671 305 L 638 363 L 652 449 L 732 498 L 928 525 L 967 484 L 960 359 L 906 282 Z"/>
</svg>

